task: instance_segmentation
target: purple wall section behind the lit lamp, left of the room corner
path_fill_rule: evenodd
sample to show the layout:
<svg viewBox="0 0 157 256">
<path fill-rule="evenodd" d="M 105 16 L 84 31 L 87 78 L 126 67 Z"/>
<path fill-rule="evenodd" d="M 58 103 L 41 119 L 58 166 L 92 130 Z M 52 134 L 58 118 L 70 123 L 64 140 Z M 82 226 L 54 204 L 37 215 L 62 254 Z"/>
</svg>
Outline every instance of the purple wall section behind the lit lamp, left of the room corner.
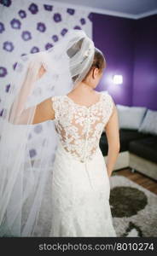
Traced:
<svg viewBox="0 0 157 256">
<path fill-rule="evenodd" d="M 108 90 L 116 103 L 131 106 L 135 20 L 93 14 L 93 41 L 107 61 L 96 90 Z M 113 84 L 113 74 L 123 75 L 123 84 Z"/>
</svg>

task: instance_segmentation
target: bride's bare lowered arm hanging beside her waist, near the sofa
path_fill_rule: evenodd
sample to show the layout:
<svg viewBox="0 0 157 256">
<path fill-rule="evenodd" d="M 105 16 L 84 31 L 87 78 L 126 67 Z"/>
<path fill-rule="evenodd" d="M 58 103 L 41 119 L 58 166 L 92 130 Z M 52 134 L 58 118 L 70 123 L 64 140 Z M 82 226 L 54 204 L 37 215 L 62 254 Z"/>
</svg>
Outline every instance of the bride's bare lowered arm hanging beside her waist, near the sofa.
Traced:
<svg viewBox="0 0 157 256">
<path fill-rule="evenodd" d="M 120 142 L 119 142 L 119 118 L 118 111 L 113 102 L 113 113 L 105 126 L 105 131 L 108 139 L 108 158 L 107 158 L 107 171 L 108 177 L 113 172 L 113 166 L 119 155 Z"/>
</svg>

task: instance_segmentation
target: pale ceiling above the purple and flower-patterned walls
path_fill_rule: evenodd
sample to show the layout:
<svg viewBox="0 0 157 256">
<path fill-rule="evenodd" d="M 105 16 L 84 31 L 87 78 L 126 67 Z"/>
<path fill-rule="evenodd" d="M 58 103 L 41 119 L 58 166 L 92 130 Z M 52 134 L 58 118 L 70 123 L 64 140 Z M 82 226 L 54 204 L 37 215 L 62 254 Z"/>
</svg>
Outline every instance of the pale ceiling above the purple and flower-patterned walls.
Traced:
<svg viewBox="0 0 157 256">
<path fill-rule="evenodd" d="M 157 0 L 49 0 L 68 7 L 90 9 L 91 12 L 138 19 L 157 14 Z"/>
</svg>

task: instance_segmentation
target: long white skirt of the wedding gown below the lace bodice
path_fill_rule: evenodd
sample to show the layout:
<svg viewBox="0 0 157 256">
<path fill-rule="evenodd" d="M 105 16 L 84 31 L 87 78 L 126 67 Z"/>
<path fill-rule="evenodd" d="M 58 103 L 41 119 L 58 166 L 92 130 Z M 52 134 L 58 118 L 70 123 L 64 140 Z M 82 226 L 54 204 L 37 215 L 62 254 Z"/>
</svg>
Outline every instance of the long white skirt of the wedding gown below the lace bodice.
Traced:
<svg viewBox="0 0 157 256">
<path fill-rule="evenodd" d="M 109 205 L 110 183 L 102 151 L 92 160 L 75 160 L 58 144 L 52 177 L 49 236 L 116 236 Z"/>
</svg>

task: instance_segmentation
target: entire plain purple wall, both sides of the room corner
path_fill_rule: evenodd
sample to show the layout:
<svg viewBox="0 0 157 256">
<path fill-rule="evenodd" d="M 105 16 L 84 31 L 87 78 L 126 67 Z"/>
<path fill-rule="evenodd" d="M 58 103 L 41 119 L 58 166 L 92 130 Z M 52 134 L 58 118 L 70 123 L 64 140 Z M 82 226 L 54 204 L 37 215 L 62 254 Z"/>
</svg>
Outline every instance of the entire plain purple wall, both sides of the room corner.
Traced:
<svg viewBox="0 0 157 256">
<path fill-rule="evenodd" d="M 107 61 L 96 90 L 108 90 L 116 104 L 157 109 L 157 42 L 153 42 L 156 16 L 133 20 L 93 14 L 93 40 Z M 113 74 L 122 74 L 123 84 L 113 84 Z"/>
</svg>

